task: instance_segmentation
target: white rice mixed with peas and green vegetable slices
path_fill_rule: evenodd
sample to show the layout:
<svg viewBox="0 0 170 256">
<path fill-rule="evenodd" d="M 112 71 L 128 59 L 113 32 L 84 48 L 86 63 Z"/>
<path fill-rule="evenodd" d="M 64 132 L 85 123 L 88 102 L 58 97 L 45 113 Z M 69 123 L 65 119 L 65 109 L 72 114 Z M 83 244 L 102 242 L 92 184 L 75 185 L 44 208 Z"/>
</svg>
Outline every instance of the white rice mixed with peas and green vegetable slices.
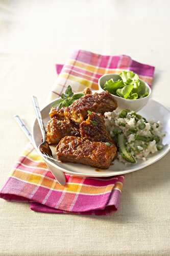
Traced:
<svg viewBox="0 0 170 256">
<path fill-rule="evenodd" d="M 105 114 L 107 130 L 118 145 L 120 161 L 136 163 L 163 147 L 162 125 L 159 121 L 146 120 L 134 111 L 121 110 Z"/>
</svg>

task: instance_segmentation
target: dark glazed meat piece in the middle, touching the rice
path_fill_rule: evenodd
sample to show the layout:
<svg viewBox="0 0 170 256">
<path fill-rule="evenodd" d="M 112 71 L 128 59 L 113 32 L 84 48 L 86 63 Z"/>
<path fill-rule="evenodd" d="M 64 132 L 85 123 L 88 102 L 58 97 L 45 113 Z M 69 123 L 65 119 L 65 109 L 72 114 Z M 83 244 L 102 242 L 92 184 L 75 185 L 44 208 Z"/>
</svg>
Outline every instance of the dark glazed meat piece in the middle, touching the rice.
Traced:
<svg viewBox="0 0 170 256">
<path fill-rule="evenodd" d="M 80 135 L 91 141 L 114 143 L 106 131 L 104 117 L 94 112 L 88 114 L 88 119 L 80 124 Z"/>
</svg>

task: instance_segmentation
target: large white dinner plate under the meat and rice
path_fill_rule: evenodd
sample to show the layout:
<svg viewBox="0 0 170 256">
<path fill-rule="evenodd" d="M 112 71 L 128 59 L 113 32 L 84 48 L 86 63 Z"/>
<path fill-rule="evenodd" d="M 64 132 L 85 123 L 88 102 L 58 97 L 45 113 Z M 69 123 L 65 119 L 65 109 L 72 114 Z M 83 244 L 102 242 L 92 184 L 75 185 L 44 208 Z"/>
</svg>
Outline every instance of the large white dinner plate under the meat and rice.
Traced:
<svg viewBox="0 0 170 256">
<path fill-rule="evenodd" d="M 45 125 L 47 121 L 50 119 L 48 114 L 50 112 L 53 102 L 46 105 L 45 108 L 43 108 L 43 110 L 41 111 L 42 118 Z M 108 176 L 131 173 L 131 172 L 134 172 L 135 170 L 142 169 L 158 161 L 163 156 L 165 156 L 170 150 L 170 112 L 157 101 L 150 99 L 149 103 L 146 106 L 144 106 L 144 108 L 138 113 L 147 119 L 154 118 L 156 121 L 160 121 L 163 125 L 163 131 L 166 133 L 166 136 L 163 138 L 163 144 L 164 144 L 163 149 L 151 155 L 150 157 L 148 157 L 147 161 L 139 160 L 136 164 L 125 165 L 123 163 L 120 163 L 118 160 L 115 160 L 114 164 L 110 165 L 108 169 L 100 170 L 99 172 L 96 171 L 96 168 L 90 167 L 84 164 L 62 163 L 60 161 L 55 163 L 52 163 L 51 161 L 49 161 L 49 163 L 63 170 L 63 172 L 71 175 L 75 175 L 75 176 L 108 177 Z M 34 126 L 33 126 L 33 139 L 37 146 L 41 143 L 41 133 L 40 133 L 37 120 L 35 120 Z M 55 147 L 51 146 L 51 149 L 52 149 L 53 155 L 55 156 Z"/>
</svg>

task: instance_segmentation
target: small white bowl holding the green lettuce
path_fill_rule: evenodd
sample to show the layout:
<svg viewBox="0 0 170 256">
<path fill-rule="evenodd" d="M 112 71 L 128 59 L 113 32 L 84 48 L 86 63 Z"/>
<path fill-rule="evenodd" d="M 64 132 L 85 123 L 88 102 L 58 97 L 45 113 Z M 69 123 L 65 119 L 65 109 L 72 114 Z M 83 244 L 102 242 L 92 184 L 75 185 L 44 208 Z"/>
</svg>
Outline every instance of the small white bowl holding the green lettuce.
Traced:
<svg viewBox="0 0 170 256">
<path fill-rule="evenodd" d="M 116 74 L 107 74 L 107 75 L 103 75 L 99 78 L 98 84 L 99 84 L 99 91 L 104 91 L 103 90 L 103 86 L 105 84 L 106 81 L 108 81 L 109 79 L 113 78 L 113 80 L 117 80 L 119 77 L 119 75 Z M 144 81 L 143 81 L 144 82 Z M 115 100 L 117 101 L 117 105 L 119 109 L 129 109 L 129 110 L 133 110 L 135 112 L 141 110 L 143 108 L 143 106 L 145 106 L 150 97 L 151 97 L 151 88 L 149 87 L 148 83 L 144 82 L 145 86 L 148 87 L 149 89 L 149 95 L 141 98 L 141 99 L 124 99 L 118 96 L 113 95 L 113 97 L 115 98 Z"/>
</svg>

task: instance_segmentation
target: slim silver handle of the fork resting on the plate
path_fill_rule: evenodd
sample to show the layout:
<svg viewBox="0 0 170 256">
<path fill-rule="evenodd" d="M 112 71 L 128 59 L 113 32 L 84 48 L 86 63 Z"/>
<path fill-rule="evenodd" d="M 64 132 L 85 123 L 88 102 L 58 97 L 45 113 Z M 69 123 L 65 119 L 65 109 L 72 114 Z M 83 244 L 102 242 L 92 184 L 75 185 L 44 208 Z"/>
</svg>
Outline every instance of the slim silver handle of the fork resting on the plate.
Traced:
<svg viewBox="0 0 170 256">
<path fill-rule="evenodd" d="M 33 106 L 34 106 L 35 114 L 36 114 L 38 124 L 39 124 L 40 130 L 41 130 L 42 139 L 43 139 L 43 141 L 45 141 L 46 133 L 45 133 L 44 123 L 43 123 L 43 120 L 42 120 L 41 111 L 40 111 L 40 108 L 39 108 L 37 97 L 32 96 L 32 100 L 33 100 Z"/>
</svg>

